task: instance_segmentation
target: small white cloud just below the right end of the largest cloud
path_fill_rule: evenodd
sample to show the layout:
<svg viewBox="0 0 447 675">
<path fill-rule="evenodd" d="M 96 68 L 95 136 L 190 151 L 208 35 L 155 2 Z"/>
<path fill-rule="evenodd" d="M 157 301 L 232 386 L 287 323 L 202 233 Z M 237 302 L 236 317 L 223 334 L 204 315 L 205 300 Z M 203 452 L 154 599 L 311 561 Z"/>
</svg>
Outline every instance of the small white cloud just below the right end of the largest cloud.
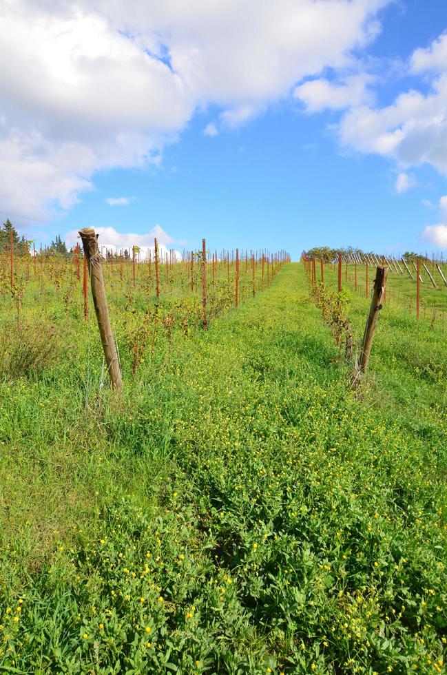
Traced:
<svg viewBox="0 0 447 675">
<path fill-rule="evenodd" d="M 293 95 L 304 103 L 309 112 L 321 112 L 325 108 L 342 110 L 369 103 L 372 94 L 367 87 L 373 81 L 375 77 L 366 73 L 347 76 L 341 83 L 310 80 L 296 87 Z"/>
</svg>

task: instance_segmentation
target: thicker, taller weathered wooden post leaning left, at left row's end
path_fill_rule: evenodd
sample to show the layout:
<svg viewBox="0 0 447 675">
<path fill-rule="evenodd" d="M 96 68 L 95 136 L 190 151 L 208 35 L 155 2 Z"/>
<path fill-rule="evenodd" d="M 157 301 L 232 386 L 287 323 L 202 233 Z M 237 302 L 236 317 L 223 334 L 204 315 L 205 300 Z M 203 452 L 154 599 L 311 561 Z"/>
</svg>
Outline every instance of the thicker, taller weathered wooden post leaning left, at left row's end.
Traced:
<svg viewBox="0 0 447 675">
<path fill-rule="evenodd" d="M 96 312 L 96 319 L 98 320 L 101 342 L 103 343 L 107 371 L 110 375 L 110 385 L 113 389 L 122 389 L 123 380 L 121 379 L 121 368 L 118 354 L 116 353 L 112 326 L 110 325 L 109 310 L 107 309 L 103 271 L 101 269 L 101 253 L 98 250 L 98 238 L 92 227 L 81 229 L 79 234 L 82 240 L 84 256 L 88 263 L 94 310 Z"/>
</svg>

